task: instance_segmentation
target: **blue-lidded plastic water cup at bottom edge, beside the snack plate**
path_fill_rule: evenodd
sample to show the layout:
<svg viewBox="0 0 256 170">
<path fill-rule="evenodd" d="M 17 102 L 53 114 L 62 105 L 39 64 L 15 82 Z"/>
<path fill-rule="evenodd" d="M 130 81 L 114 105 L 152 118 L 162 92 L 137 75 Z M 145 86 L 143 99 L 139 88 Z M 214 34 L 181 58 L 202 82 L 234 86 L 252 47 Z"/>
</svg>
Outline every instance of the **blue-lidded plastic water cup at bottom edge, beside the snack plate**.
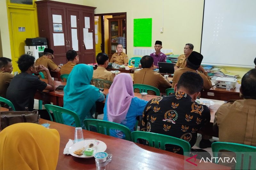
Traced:
<svg viewBox="0 0 256 170">
<path fill-rule="evenodd" d="M 108 154 L 106 152 L 98 152 L 94 154 L 96 169 L 97 170 L 105 170 L 106 165 L 111 161 L 112 154 Z"/>
</svg>

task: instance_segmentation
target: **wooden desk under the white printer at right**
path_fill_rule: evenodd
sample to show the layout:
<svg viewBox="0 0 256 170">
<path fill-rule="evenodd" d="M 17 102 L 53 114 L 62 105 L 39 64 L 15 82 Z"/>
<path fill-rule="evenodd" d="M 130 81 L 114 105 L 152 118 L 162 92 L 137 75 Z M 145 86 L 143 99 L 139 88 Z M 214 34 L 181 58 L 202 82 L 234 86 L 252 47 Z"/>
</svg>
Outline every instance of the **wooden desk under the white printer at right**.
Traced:
<svg viewBox="0 0 256 170">
<path fill-rule="evenodd" d="M 202 90 L 201 97 L 213 100 L 241 100 L 239 96 L 239 88 L 241 84 L 236 83 L 235 89 L 226 90 L 225 88 L 212 87 L 209 90 Z"/>
</svg>

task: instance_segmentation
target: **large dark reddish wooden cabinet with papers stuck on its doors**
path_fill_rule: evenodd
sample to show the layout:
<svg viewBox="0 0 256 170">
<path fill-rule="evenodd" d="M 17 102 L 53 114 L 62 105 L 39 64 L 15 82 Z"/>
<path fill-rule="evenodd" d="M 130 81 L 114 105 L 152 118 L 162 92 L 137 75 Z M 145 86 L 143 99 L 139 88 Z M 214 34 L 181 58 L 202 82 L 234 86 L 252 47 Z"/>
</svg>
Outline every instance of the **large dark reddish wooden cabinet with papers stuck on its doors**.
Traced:
<svg viewBox="0 0 256 170">
<path fill-rule="evenodd" d="M 67 63 L 66 52 L 76 50 L 79 63 L 95 63 L 95 7 L 50 0 L 36 1 L 39 36 L 46 37 L 56 64 Z M 85 26 L 85 17 L 90 20 Z M 88 23 L 88 22 L 86 22 Z M 90 25 L 90 26 L 88 26 Z M 85 28 L 86 27 L 86 28 Z M 89 28 L 88 28 L 89 27 Z M 92 37 L 92 49 L 84 44 L 84 32 Z M 87 34 L 87 35 L 89 35 Z M 92 35 L 92 36 L 91 36 Z"/>
</svg>

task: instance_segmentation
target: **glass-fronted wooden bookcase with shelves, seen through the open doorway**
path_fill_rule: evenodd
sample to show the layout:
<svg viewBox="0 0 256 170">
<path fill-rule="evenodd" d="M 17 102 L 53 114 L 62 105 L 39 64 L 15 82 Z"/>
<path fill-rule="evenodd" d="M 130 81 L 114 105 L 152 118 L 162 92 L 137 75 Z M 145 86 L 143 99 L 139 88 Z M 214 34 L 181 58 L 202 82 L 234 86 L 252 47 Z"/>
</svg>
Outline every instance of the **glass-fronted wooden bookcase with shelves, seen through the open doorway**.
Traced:
<svg viewBox="0 0 256 170">
<path fill-rule="evenodd" d="M 125 37 L 124 48 L 126 49 L 127 41 L 126 41 L 125 18 L 108 18 L 108 33 L 109 33 L 108 34 L 109 35 L 108 58 L 110 60 L 112 55 L 116 52 L 118 37 Z"/>
</svg>

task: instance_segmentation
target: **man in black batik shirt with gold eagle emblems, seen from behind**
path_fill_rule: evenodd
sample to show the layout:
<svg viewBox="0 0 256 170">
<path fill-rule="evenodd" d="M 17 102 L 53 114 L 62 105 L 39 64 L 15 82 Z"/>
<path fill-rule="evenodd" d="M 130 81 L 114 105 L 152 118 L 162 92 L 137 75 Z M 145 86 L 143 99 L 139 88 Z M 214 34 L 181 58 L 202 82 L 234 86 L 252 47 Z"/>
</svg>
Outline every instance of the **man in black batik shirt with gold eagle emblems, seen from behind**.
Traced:
<svg viewBox="0 0 256 170">
<path fill-rule="evenodd" d="M 195 102 L 203 84 L 203 79 L 197 73 L 183 73 L 174 86 L 175 94 L 148 102 L 140 131 L 178 137 L 192 147 L 196 143 L 197 131 L 211 118 L 209 108 Z M 179 146 L 169 145 L 166 150 L 183 154 Z"/>
</svg>

